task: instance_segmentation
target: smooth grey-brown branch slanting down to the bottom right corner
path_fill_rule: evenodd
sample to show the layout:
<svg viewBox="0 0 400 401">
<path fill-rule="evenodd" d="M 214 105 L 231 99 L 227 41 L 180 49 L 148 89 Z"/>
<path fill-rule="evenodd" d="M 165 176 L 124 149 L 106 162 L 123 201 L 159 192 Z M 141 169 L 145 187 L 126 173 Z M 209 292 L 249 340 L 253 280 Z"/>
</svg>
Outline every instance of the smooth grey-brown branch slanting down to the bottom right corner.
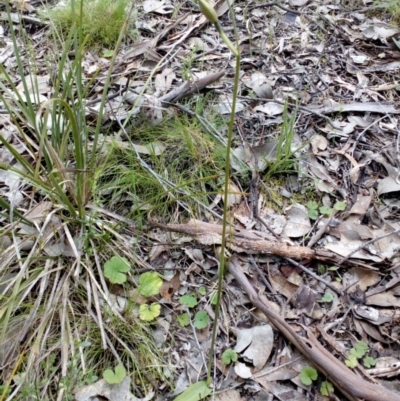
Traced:
<svg viewBox="0 0 400 401">
<path fill-rule="evenodd" d="M 367 382 L 357 376 L 344 363 L 330 354 L 317 340 L 311 330 L 301 326 L 307 333 L 307 338 L 299 336 L 295 330 L 276 312 L 269 309 L 259 298 L 247 277 L 243 273 L 236 256 L 232 257 L 229 272 L 235 277 L 249 296 L 254 306 L 260 309 L 276 327 L 312 363 L 334 387 L 341 391 L 349 400 L 358 401 L 400 401 L 400 395 L 385 387 Z"/>
</svg>

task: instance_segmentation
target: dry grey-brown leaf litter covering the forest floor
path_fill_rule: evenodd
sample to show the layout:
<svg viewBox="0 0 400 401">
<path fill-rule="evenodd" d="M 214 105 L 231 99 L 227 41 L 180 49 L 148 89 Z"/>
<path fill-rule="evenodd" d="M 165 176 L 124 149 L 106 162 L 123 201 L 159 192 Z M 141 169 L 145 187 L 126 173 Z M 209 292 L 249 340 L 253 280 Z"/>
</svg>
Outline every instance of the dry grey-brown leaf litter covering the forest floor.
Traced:
<svg viewBox="0 0 400 401">
<path fill-rule="evenodd" d="M 352 8 L 333 1 L 320 4 L 304 0 L 283 4 L 291 9 L 285 10 L 275 3 L 266 7 L 247 2 L 249 16 L 244 4 L 235 3 L 243 87 L 235 110 L 238 135 L 232 162 L 237 174 L 230 184 L 229 256 L 239 256 L 249 285 L 257 289 L 265 305 L 278 311 L 300 337 L 309 341 L 318 337 L 316 341 L 332 355 L 338 354 L 341 363 L 345 363 L 356 340 L 365 342 L 376 365 L 363 368 L 357 362 L 354 370 L 371 383 L 379 378 L 383 388 L 394 392 L 393 382 L 400 373 L 400 314 L 396 309 L 400 307 L 400 49 L 395 39 L 400 29 L 390 25 L 385 14 L 372 16 L 368 9 L 355 5 Z M 175 14 L 171 2 L 155 0 L 144 1 L 139 7 L 141 12 L 136 18 L 140 35 L 117 55 L 115 72 L 119 81 L 110 87 L 103 124 L 134 117 L 157 126 L 169 117 L 173 104 L 177 107 L 184 97 L 202 96 L 206 91 L 214 92 L 209 106 L 216 113 L 228 114 L 232 104 L 231 60 L 198 9 L 182 9 Z M 229 27 L 226 3 L 219 1 L 215 8 L 222 23 Z M 29 6 L 25 14 L 13 12 L 12 17 L 17 24 L 23 20 L 25 28 L 34 35 L 38 26 L 45 26 L 35 15 L 36 6 Z M 0 59 L 15 78 L 15 96 L 26 101 L 26 88 L 18 85 L 9 35 L 3 34 L 2 40 L 5 46 Z M 41 35 L 32 36 L 32 40 L 39 46 Z M 192 57 L 189 51 L 194 51 L 192 66 L 184 74 L 185 58 Z M 44 50 L 38 52 L 35 62 L 37 67 L 45 65 Z M 94 81 L 101 86 L 108 64 L 106 58 L 87 53 L 84 74 L 91 78 L 98 73 Z M 51 77 L 36 74 L 29 76 L 28 81 L 35 84 L 28 92 L 39 105 L 52 96 Z M 146 86 L 149 79 L 151 85 Z M 89 119 L 95 120 L 100 95 L 96 87 L 90 92 L 85 109 Z M 277 134 L 283 123 L 285 102 L 291 113 L 296 112 L 294 130 L 305 148 L 302 154 L 293 156 L 295 171 L 281 173 L 280 181 L 274 181 L 263 174 L 276 162 Z M 18 130 L 4 105 L 0 107 L 1 135 L 7 135 L 7 140 L 17 146 Z M 121 148 L 131 146 L 126 138 L 116 140 Z M 294 139 L 290 145 L 295 145 Z M 159 142 L 133 142 L 132 146 L 145 157 L 159 157 L 165 152 Z M 23 147 L 20 151 L 28 153 Z M 4 147 L 0 157 L 6 166 L 14 164 L 13 156 Z M 241 174 L 244 165 L 252 171 L 252 182 L 258 183 L 255 187 Z M 264 181 L 265 177 L 269 181 Z M 28 210 L 26 216 L 35 221 L 35 227 L 21 224 L 18 228 L 24 239 L 21 242 L 25 248 L 19 245 L 21 250 L 29 251 L 34 243 L 32 238 L 41 236 L 43 252 L 49 256 L 80 254 L 74 252 L 77 244 L 59 228 L 61 222 L 56 213 L 50 212 L 55 210 L 51 202 L 38 202 L 32 207 L 31 202 L 36 201 L 26 194 L 29 184 L 12 170 L 2 169 L 1 182 L 3 197 L 20 210 Z M 313 209 L 312 218 L 307 209 L 310 199 L 318 206 Z M 345 202 L 345 210 L 334 209 L 336 202 Z M 221 204 L 221 198 L 216 196 L 210 208 L 218 214 Z M 329 211 L 331 215 L 327 216 Z M 149 289 L 144 294 L 149 299 L 141 301 L 145 320 L 154 320 L 160 314 L 153 323 L 154 330 L 159 329 L 157 325 L 162 326 L 162 319 L 168 322 L 164 324 L 165 340 L 159 344 L 169 358 L 165 369 L 171 388 L 158 383 L 158 393 L 151 390 L 145 397 L 136 398 L 130 393 L 128 378 L 118 384 L 123 395 L 113 393 L 117 385 L 109 388 L 104 380 L 99 380 L 77 390 L 77 399 L 90 399 L 89 393 L 90 397 L 110 400 L 164 399 L 172 394 L 173 387 L 179 392 L 188 388 L 189 396 L 182 396 L 193 399 L 198 399 L 198 394 L 194 394 L 197 387 L 204 394 L 209 393 L 200 380 L 205 374 L 204 361 L 211 357 L 208 319 L 213 319 L 210 305 L 218 271 L 221 221 L 210 210 L 202 212 L 202 216 L 191 216 L 190 221 L 179 218 L 179 213 L 171 215 L 169 221 L 149 216 L 146 234 L 155 249 L 154 257 L 148 243 L 139 243 L 139 265 L 166 269 L 163 282 L 158 275 L 149 276 L 147 284 L 146 276 L 135 279 L 139 288 L 142 285 Z M 4 253 L 4 257 L 9 255 L 10 250 Z M 121 284 L 126 280 L 124 266 L 112 269 L 111 281 Z M 165 277 L 171 270 L 168 281 Z M 14 279 L 2 274 L 3 291 Z M 199 291 L 202 286 L 206 288 L 205 294 Z M 115 288 L 118 287 L 110 286 L 110 291 L 117 292 Z M 158 303 L 158 293 L 165 303 Z M 115 294 L 102 295 L 108 297 L 107 303 L 113 302 L 111 296 Z M 126 294 L 124 297 L 127 298 Z M 315 360 L 299 354 L 295 337 L 284 343 L 285 330 L 252 305 L 252 299 L 243 282 L 234 278 L 232 272 L 227 274 L 215 350 L 215 389 L 232 392 L 230 387 L 239 388 L 232 397 L 248 400 L 261 400 L 263 391 L 276 399 L 302 400 L 306 399 L 304 394 L 327 399 L 314 385 L 301 383 L 302 369 Z M 105 305 L 103 301 L 101 304 Z M 122 305 L 118 311 L 125 314 L 128 303 Z M 178 324 L 177 316 L 184 313 L 193 325 Z M 24 320 L 21 324 L 25 326 Z M 309 330 L 316 337 L 307 337 Z M 13 337 L 15 333 L 10 329 L 0 346 L 2 368 L 8 365 L 5 347 L 10 347 Z M 234 369 L 227 372 L 218 359 L 228 348 L 237 351 L 239 359 Z M 13 345 L 8 361 L 17 358 L 16 349 Z M 329 380 L 330 372 L 326 375 L 327 378 L 312 381 Z M 192 383 L 197 387 L 192 387 Z M 335 388 L 335 396 L 359 399 L 346 391 L 341 395 L 341 390 Z M 86 395 L 78 396 L 78 391 Z M 222 394 L 217 397 L 223 399 Z M 399 395 L 395 397 L 386 399 L 398 399 Z"/>
</svg>

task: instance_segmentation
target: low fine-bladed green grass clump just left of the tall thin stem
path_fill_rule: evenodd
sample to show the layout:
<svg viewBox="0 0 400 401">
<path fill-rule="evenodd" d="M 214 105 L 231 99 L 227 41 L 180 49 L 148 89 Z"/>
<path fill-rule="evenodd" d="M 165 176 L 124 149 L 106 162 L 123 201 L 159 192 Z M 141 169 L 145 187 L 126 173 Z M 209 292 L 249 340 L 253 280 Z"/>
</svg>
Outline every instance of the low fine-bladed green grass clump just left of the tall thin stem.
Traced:
<svg viewBox="0 0 400 401">
<path fill-rule="evenodd" d="M 132 147 L 113 142 L 98 172 L 99 203 L 114 210 L 131 204 L 136 218 L 149 210 L 171 216 L 177 205 L 191 214 L 199 202 L 209 205 L 221 193 L 224 149 L 196 121 L 175 117 L 156 127 L 144 124 L 130 135 Z M 150 154 L 138 157 L 137 143 Z M 159 144 L 161 152 L 153 152 Z"/>
</svg>

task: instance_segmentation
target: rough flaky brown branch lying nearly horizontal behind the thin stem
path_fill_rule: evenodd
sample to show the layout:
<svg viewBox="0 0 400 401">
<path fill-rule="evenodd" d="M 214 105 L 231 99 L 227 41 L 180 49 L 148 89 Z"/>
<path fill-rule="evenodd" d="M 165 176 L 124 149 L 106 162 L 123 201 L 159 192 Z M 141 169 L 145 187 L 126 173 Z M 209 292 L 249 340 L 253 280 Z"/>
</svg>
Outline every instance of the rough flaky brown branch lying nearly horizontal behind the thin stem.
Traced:
<svg viewBox="0 0 400 401">
<path fill-rule="evenodd" d="M 203 245 L 218 245 L 222 242 L 222 226 L 200 220 L 190 220 L 187 224 L 161 224 L 151 221 L 151 225 L 164 230 L 176 231 L 190 235 Z M 236 251 L 248 254 L 273 254 L 291 259 L 318 259 L 337 263 L 340 258 L 331 251 L 311 249 L 277 241 L 272 235 L 254 230 L 228 229 L 227 246 Z"/>
</svg>

